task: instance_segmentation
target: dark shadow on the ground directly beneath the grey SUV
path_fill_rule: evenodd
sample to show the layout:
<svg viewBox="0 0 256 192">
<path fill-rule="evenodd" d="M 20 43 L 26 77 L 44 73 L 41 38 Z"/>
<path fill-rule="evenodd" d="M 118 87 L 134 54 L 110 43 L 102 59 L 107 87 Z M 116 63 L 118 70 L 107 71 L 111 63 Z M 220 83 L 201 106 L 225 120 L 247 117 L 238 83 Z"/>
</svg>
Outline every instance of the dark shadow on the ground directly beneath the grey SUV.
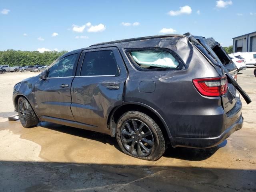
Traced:
<svg viewBox="0 0 256 192">
<path fill-rule="evenodd" d="M 63 125 L 54 124 L 50 122 L 40 122 L 38 126 L 55 130 L 58 132 L 63 132 L 66 134 L 90 139 L 90 140 L 96 140 L 104 144 L 109 144 L 122 152 L 122 150 L 118 146 L 116 138 L 113 138 L 106 134 L 79 129 L 79 128 L 73 128 L 69 126 L 63 126 Z M 188 161 L 202 161 L 207 158 L 210 158 L 210 156 L 212 156 L 219 148 L 225 146 L 226 143 L 227 143 L 227 140 L 224 140 L 220 145 L 213 148 L 208 148 L 208 149 L 196 149 L 196 148 L 184 148 L 184 147 L 173 148 L 169 144 L 163 156 L 168 158 L 176 158 L 176 159 L 182 159 L 182 160 L 188 160 Z"/>
</svg>

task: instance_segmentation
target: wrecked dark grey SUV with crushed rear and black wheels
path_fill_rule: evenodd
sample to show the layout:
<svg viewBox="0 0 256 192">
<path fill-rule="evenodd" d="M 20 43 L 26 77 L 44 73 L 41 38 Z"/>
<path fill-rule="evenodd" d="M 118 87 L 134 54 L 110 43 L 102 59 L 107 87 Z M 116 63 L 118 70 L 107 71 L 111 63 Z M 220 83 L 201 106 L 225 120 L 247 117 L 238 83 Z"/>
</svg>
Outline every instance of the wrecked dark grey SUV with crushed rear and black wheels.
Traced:
<svg viewBox="0 0 256 192">
<path fill-rule="evenodd" d="M 239 93 L 213 50 L 191 34 L 95 44 L 64 54 L 14 86 L 22 126 L 39 121 L 116 137 L 125 154 L 157 160 L 209 148 L 242 128 Z"/>
</svg>

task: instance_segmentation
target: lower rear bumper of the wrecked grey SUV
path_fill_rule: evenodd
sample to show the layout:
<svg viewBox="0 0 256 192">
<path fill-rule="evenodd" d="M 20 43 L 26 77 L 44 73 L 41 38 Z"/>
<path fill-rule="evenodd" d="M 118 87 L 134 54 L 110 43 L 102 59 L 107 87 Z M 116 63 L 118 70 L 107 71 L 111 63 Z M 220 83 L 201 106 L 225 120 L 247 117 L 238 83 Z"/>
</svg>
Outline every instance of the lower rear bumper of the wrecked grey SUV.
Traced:
<svg viewBox="0 0 256 192">
<path fill-rule="evenodd" d="M 182 138 L 171 137 L 170 141 L 173 147 L 189 147 L 189 148 L 210 148 L 217 146 L 228 138 L 233 132 L 242 128 L 244 118 L 242 114 L 232 126 L 227 128 L 222 134 L 212 138 Z"/>
</svg>

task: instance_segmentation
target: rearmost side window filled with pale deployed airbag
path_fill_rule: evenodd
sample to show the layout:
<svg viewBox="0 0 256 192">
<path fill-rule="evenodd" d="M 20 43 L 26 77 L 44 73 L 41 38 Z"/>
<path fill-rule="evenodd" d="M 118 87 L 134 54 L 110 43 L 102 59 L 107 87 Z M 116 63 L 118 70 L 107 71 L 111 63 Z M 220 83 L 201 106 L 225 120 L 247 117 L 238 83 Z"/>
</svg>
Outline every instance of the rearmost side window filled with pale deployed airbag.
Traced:
<svg viewBox="0 0 256 192">
<path fill-rule="evenodd" d="M 142 68 L 177 68 L 178 60 L 170 52 L 163 50 L 136 50 L 130 52 L 132 58 Z"/>
</svg>

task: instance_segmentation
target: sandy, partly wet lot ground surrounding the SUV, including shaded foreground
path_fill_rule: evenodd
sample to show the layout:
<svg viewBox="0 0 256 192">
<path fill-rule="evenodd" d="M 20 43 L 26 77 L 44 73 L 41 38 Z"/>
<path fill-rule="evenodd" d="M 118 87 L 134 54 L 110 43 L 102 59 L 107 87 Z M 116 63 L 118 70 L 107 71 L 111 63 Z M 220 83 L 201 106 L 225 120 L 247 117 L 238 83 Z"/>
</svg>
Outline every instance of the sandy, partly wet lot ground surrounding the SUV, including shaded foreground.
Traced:
<svg viewBox="0 0 256 192">
<path fill-rule="evenodd" d="M 169 147 L 156 162 L 123 154 L 114 138 L 41 123 L 23 128 L 14 114 L 12 88 L 34 72 L 0 75 L 0 191 L 256 191 L 256 78 L 238 82 L 244 126 L 211 149 Z"/>
</svg>

